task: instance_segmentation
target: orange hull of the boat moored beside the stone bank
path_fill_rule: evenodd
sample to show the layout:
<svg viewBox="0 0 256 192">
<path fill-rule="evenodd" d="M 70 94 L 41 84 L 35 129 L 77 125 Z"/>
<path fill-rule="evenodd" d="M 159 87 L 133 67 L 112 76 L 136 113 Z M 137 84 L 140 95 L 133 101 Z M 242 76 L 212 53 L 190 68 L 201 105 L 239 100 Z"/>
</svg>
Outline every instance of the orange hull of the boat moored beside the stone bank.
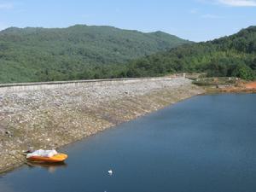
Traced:
<svg viewBox="0 0 256 192">
<path fill-rule="evenodd" d="M 32 160 L 32 161 L 37 161 L 37 162 L 57 163 L 57 162 L 63 162 L 64 160 L 66 160 L 67 154 L 55 154 L 51 157 L 31 156 L 26 159 Z"/>
</svg>

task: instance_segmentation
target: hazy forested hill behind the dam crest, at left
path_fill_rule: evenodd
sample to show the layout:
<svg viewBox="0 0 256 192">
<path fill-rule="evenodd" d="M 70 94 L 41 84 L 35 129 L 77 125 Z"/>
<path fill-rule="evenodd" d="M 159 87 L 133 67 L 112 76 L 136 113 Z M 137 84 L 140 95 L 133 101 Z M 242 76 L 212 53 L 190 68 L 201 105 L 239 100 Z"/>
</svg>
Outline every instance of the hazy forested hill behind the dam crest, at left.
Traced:
<svg viewBox="0 0 256 192">
<path fill-rule="evenodd" d="M 10 27 L 0 32 L 0 83 L 101 78 L 95 72 L 102 66 L 189 43 L 165 32 L 111 26 Z"/>
</svg>

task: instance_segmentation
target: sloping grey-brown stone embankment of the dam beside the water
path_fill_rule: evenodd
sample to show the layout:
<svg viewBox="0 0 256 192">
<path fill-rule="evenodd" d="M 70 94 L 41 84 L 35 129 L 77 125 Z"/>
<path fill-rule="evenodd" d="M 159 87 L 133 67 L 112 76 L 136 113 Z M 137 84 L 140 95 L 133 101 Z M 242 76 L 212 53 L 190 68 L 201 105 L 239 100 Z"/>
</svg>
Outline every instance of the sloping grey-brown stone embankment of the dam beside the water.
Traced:
<svg viewBox="0 0 256 192">
<path fill-rule="evenodd" d="M 58 148 L 204 92 L 184 78 L 0 85 L 0 172 L 22 150 Z"/>
</svg>

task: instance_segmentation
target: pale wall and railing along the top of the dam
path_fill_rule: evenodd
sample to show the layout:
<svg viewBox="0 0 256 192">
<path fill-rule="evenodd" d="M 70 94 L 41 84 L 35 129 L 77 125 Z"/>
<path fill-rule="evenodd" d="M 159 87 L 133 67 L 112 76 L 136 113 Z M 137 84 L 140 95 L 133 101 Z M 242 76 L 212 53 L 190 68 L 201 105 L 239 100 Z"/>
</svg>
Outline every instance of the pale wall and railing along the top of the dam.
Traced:
<svg viewBox="0 0 256 192">
<path fill-rule="evenodd" d="M 21 91 L 21 90 L 44 90 L 61 88 L 62 86 L 78 86 L 81 84 L 89 83 L 102 83 L 102 82 L 124 82 L 132 83 L 137 81 L 148 80 L 170 80 L 173 78 L 184 77 L 183 74 L 175 74 L 168 77 L 155 77 L 155 78 L 125 78 L 125 79 L 89 79 L 89 80 L 72 80 L 72 81 L 49 81 L 49 82 L 34 82 L 34 83 L 15 83 L 15 84 L 0 84 L 0 93 L 9 91 Z"/>
</svg>

